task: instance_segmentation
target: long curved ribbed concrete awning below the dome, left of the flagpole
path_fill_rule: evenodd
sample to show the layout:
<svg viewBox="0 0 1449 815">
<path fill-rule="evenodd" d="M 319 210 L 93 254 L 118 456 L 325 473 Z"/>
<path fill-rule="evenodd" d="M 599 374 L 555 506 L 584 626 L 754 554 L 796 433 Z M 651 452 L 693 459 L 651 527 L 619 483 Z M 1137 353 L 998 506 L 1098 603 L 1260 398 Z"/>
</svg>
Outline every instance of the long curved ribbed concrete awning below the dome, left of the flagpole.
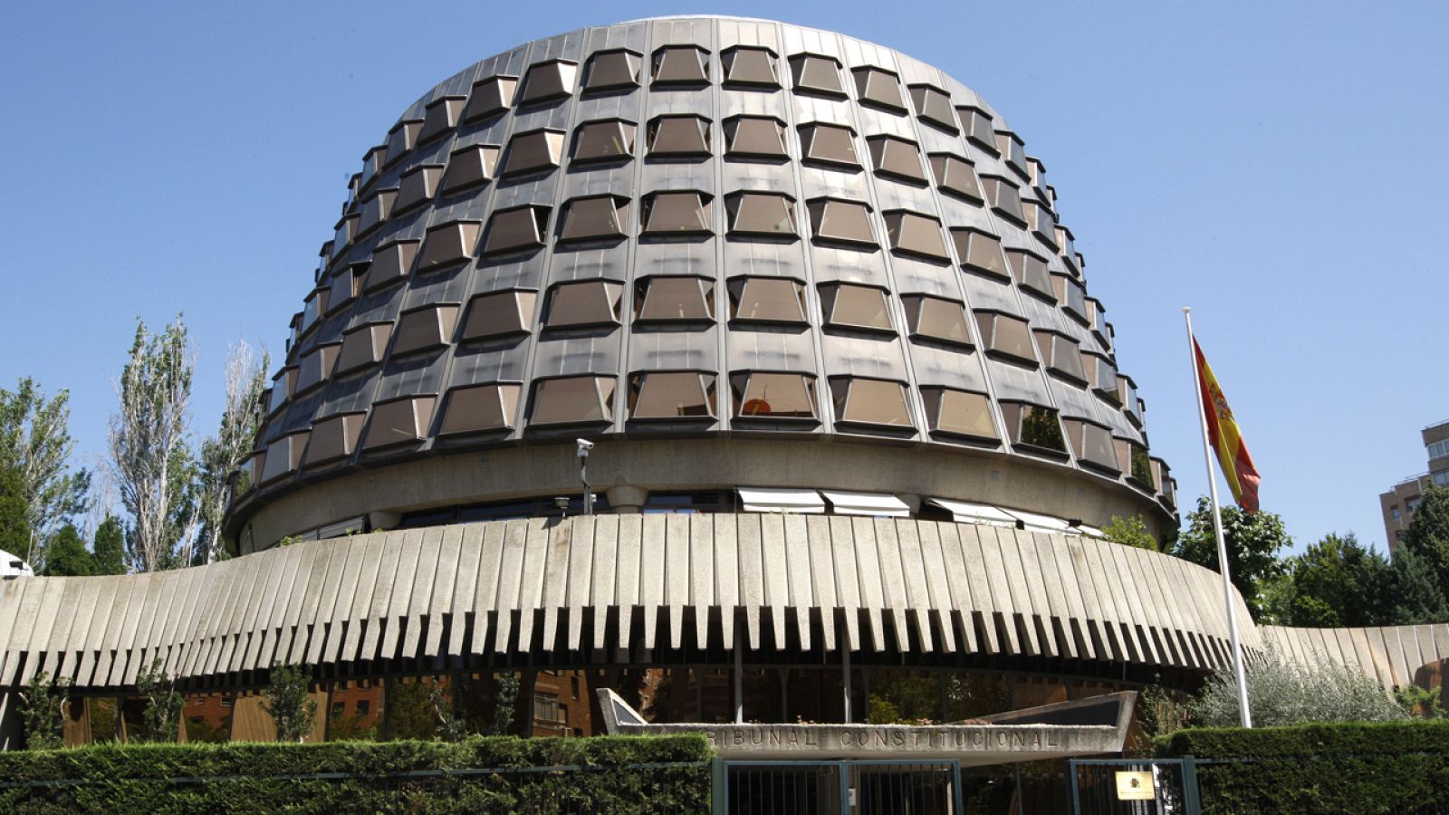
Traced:
<svg viewBox="0 0 1449 815">
<path fill-rule="evenodd" d="M 1239 613 L 1248 619 L 1240 602 Z M 1217 574 L 1184 560 L 913 518 L 491 521 L 178 571 L 0 583 L 0 686 L 10 687 L 41 670 L 83 689 L 126 686 L 156 657 L 204 679 L 272 663 L 607 664 L 736 645 L 890 653 L 903 664 L 981 654 L 1040 660 L 1043 671 L 1061 660 L 1213 670 L 1226 640 Z M 1262 647 L 1250 625 L 1243 641 Z"/>
</svg>

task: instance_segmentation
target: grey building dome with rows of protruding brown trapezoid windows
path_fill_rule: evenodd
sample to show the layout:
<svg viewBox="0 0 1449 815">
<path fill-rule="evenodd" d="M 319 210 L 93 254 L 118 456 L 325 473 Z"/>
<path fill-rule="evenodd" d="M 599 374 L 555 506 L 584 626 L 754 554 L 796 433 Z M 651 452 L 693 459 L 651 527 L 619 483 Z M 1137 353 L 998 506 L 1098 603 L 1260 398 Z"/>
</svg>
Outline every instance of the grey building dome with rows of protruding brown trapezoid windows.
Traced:
<svg viewBox="0 0 1449 815">
<path fill-rule="evenodd" d="M 367 152 L 313 283 L 243 551 L 552 510 L 575 437 L 613 510 L 1172 518 L 1042 162 L 848 36 L 680 17 L 484 59 Z"/>
</svg>

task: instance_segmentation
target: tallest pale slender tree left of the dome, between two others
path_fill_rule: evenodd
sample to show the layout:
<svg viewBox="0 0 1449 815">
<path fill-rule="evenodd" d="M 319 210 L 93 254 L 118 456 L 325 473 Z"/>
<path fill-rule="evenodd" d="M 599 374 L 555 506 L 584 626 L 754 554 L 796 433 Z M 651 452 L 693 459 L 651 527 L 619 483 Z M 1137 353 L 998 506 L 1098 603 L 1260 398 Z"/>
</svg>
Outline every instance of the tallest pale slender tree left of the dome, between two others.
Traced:
<svg viewBox="0 0 1449 815">
<path fill-rule="evenodd" d="M 187 448 L 196 355 L 181 318 L 161 334 L 136 320 L 136 338 L 110 421 L 110 466 L 130 513 L 128 555 L 138 571 L 190 561 L 196 534 L 193 461 Z"/>
</svg>

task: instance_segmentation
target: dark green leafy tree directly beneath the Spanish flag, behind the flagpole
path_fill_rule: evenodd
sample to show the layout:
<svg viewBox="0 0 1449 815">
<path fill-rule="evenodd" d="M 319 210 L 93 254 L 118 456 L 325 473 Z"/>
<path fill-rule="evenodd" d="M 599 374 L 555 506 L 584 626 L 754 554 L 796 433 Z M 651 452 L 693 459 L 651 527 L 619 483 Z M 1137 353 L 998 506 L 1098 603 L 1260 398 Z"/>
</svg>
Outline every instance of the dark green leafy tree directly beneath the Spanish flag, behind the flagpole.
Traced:
<svg viewBox="0 0 1449 815">
<path fill-rule="evenodd" d="M 1284 529 L 1282 518 L 1272 512 L 1249 515 L 1236 506 L 1224 506 L 1223 539 L 1227 542 L 1233 586 L 1242 593 L 1253 619 L 1258 619 L 1264 613 L 1262 587 L 1282 574 L 1278 550 L 1293 545 L 1293 538 Z M 1188 528 L 1178 537 L 1171 554 L 1219 571 L 1213 506 L 1206 496 L 1198 496 L 1197 509 L 1188 515 Z"/>
</svg>

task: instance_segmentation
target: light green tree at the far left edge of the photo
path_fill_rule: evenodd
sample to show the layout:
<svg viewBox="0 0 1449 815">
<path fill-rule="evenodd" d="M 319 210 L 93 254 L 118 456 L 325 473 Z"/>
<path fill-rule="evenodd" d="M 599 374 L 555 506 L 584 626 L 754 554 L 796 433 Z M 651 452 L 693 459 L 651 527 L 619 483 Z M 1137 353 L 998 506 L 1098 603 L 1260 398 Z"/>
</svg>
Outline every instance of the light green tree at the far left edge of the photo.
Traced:
<svg viewBox="0 0 1449 815">
<path fill-rule="evenodd" d="M 43 541 L 61 519 L 84 510 L 90 473 L 67 470 L 75 441 L 70 422 L 70 393 L 52 397 L 25 377 L 16 389 L 0 387 L 0 466 L 14 470 L 20 497 L 26 506 L 29 535 L 16 550 L 28 561 L 38 561 Z"/>
</svg>

